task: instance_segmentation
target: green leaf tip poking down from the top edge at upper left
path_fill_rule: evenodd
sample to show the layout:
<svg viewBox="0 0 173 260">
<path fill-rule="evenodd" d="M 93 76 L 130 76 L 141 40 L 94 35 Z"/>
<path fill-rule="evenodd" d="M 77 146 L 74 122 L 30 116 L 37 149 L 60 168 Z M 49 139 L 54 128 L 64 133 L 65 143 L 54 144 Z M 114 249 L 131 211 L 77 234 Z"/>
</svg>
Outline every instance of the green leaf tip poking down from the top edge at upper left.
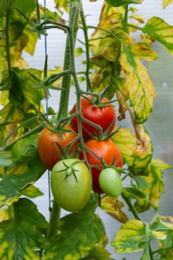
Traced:
<svg viewBox="0 0 173 260">
<path fill-rule="evenodd" d="M 36 8 L 36 0 L 11 0 L 11 4 L 14 8 L 18 8 L 24 12 L 26 16 L 29 16 Z"/>
</svg>

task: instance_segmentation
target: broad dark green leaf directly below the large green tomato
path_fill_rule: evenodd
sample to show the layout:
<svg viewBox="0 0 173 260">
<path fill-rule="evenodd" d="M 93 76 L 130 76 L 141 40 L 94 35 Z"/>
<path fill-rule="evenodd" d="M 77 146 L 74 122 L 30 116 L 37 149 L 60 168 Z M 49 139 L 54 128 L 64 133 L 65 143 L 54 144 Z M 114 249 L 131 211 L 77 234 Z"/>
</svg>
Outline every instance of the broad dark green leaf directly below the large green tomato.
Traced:
<svg viewBox="0 0 173 260">
<path fill-rule="evenodd" d="M 51 239 L 51 246 L 45 251 L 44 260 L 78 260 L 84 250 L 98 243 L 104 233 L 101 220 L 94 214 L 98 196 L 78 213 L 62 218 L 57 226 L 61 231 Z M 74 239 L 75 238 L 75 239 Z"/>
</svg>

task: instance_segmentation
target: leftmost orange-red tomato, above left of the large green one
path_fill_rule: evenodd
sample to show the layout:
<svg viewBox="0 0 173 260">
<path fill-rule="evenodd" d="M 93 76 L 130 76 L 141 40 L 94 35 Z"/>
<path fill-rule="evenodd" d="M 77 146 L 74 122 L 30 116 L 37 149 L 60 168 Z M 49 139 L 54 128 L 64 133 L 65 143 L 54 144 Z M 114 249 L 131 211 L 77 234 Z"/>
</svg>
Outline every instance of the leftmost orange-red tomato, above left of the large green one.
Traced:
<svg viewBox="0 0 173 260">
<path fill-rule="evenodd" d="M 66 125 L 64 129 L 74 131 L 72 127 L 70 127 L 70 125 Z M 38 153 L 42 164 L 46 167 L 46 169 L 52 170 L 53 166 L 57 163 L 57 161 L 60 160 L 60 158 L 57 156 L 55 148 L 57 149 L 58 153 L 62 155 L 55 142 L 59 143 L 62 148 L 65 148 L 72 140 L 76 138 L 77 135 L 75 133 L 62 132 L 62 136 L 63 140 L 58 133 L 49 131 L 49 129 L 46 128 L 44 128 L 40 133 L 40 136 L 38 138 Z M 55 145 L 55 148 L 53 144 Z M 77 142 L 70 146 L 68 154 L 72 152 L 76 145 Z"/>
</svg>

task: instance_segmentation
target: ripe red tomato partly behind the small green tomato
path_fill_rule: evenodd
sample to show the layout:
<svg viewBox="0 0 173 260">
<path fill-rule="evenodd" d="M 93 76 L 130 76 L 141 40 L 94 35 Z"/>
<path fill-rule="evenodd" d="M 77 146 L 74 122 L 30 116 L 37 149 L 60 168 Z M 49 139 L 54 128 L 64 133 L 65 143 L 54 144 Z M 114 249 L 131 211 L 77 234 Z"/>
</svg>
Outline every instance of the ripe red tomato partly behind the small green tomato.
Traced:
<svg viewBox="0 0 173 260">
<path fill-rule="evenodd" d="M 107 165 L 111 165 L 116 156 L 114 166 L 123 166 L 122 155 L 118 147 L 112 140 L 108 139 L 104 141 L 98 141 L 90 139 L 85 142 L 85 145 L 88 146 L 88 148 L 90 148 L 90 150 L 92 150 L 96 155 L 98 155 L 98 157 L 102 157 Z M 90 151 L 86 152 L 86 156 L 90 165 L 101 166 L 101 159 L 97 158 L 96 155 L 93 155 Z M 80 154 L 79 158 L 83 159 L 83 153 Z M 92 168 L 92 189 L 97 194 L 104 193 L 98 183 L 98 177 L 100 173 L 101 170 L 98 170 L 97 168 Z"/>
</svg>

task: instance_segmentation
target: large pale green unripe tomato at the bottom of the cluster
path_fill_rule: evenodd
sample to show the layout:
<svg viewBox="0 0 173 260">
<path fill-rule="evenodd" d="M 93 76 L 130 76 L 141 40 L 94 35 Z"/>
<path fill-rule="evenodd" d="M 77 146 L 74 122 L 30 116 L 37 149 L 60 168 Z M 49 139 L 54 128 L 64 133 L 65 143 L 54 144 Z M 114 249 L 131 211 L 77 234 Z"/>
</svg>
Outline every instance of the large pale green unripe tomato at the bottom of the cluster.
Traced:
<svg viewBox="0 0 173 260">
<path fill-rule="evenodd" d="M 65 179 L 67 170 L 57 172 L 66 169 L 63 161 L 67 166 L 70 166 L 80 160 L 77 158 L 64 159 L 55 164 L 51 172 L 51 190 L 56 203 L 60 207 L 70 212 L 77 212 L 85 207 L 90 198 L 91 174 L 87 166 L 81 161 L 81 163 L 72 166 L 73 169 L 77 170 L 75 171 L 77 180 L 74 174 L 68 175 Z"/>
</svg>

